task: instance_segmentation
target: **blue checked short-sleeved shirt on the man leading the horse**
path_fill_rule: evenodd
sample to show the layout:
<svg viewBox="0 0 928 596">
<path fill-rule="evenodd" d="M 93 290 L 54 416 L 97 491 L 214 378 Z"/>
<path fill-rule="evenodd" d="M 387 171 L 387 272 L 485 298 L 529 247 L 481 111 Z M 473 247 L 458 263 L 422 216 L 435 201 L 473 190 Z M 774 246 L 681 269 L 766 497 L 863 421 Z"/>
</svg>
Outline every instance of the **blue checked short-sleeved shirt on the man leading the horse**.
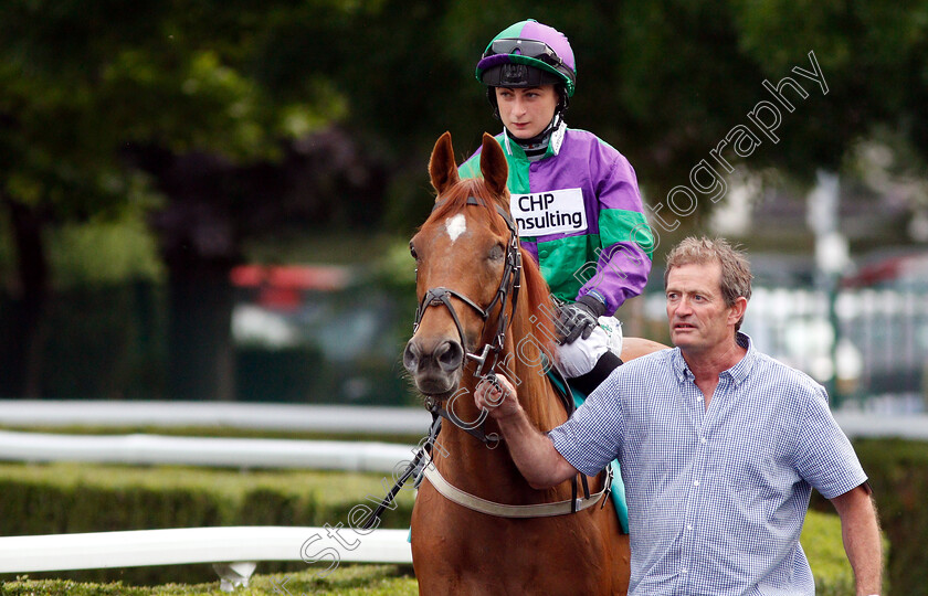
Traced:
<svg viewBox="0 0 928 596">
<path fill-rule="evenodd" d="M 622 465 L 630 595 L 805 595 L 799 544 L 814 487 L 831 499 L 866 481 L 827 395 L 753 349 L 719 375 L 709 407 L 679 349 L 616 371 L 549 433 L 578 470 Z"/>
</svg>

